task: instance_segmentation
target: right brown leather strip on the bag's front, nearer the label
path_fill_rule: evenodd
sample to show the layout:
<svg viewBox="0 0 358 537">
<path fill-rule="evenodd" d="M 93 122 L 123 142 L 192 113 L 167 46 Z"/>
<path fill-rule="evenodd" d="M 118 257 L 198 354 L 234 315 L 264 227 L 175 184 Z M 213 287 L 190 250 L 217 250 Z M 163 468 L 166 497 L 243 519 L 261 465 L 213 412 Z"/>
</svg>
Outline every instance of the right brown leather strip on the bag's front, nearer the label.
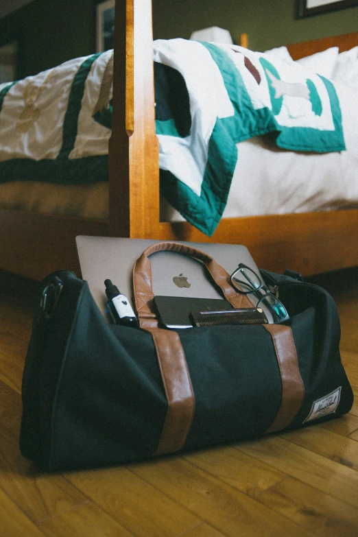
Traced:
<svg viewBox="0 0 358 537">
<path fill-rule="evenodd" d="M 289 326 L 283 324 L 263 324 L 263 326 L 272 337 L 282 379 L 281 407 L 272 425 L 265 431 L 272 433 L 285 429 L 292 422 L 305 398 L 305 387 L 298 369 L 296 346 Z"/>
</svg>

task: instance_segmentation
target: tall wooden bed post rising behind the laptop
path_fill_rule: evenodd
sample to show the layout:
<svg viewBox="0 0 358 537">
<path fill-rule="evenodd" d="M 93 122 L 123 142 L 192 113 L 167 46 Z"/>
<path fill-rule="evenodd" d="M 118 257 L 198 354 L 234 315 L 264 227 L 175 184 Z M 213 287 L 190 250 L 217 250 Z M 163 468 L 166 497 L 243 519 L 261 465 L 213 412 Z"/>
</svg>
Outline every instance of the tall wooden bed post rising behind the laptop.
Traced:
<svg viewBox="0 0 358 537">
<path fill-rule="evenodd" d="M 152 1 L 116 0 L 115 6 L 110 234 L 143 238 L 159 221 Z"/>
</svg>

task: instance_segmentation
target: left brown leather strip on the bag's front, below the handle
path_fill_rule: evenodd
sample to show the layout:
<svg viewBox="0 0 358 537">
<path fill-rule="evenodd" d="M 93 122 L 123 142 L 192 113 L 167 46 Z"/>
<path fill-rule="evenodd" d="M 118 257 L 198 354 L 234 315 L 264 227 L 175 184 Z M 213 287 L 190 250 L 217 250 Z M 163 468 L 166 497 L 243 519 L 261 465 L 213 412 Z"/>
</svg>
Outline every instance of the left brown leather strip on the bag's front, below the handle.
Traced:
<svg viewBox="0 0 358 537">
<path fill-rule="evenodd" d="M 147 329 L 153 337 L 168 409 L 154 455 L 178 451 L 187 440 L 195 409 L 193 386 L 184 350 L 176 332 Z"/>
</svg>

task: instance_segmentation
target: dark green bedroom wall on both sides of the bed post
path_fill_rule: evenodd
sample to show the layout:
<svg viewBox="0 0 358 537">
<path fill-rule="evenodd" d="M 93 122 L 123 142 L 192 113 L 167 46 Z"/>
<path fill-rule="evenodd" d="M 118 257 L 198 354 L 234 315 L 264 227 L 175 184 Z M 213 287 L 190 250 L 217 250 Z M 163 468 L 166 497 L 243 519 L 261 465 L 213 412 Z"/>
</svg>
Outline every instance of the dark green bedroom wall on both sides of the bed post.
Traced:
<svg viewBox="0 0 358 537">
<path fill-rule="evenodd" d="M 19 77 L 95 52 L 95 0 L 33 0 L 0 21 L 0 46 L 19 39 Z M 153 0 L 154 38 L 221 26 L 251 49 L 358 30 L 358 7 L 296 19 L 296 0 Z"/>
</svg>

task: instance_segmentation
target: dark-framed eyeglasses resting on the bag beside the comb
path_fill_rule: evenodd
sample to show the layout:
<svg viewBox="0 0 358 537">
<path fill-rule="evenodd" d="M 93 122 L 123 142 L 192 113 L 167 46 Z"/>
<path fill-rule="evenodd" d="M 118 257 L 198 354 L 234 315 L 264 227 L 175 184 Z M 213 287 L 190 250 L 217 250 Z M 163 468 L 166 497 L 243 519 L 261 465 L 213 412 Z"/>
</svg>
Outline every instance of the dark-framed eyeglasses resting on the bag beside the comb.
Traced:
<svg viewBox="0 0 358 537">
<path fill-rule="evenodd" d="M 255 287 L 254 283 L 252 283 L 252 281 L 250 280 L 248 274 L 243 272 L 243 270 L 245 269 L 249 271 L 249 274 L 250 272 L 254 274 L 254 276 L 257 278 L 257 281 L 261 282 L 261 284 L 258 287 Z M 241 281 L 235 278 L 237 273 L 243 274 L 243 277 L 246 278 L 247 281 Z M 260 302 L 264 302 L 265 305 L 270 309 L 274 322 L 283 322 L 289 319 L 289 314 L 287 313 L 287 309 L 285 308 L 281 300 L 278 300 L 278 298 L 274 295 L 274 293 L 270 291 L 267 285 L 265 285 L 265 283 L 261 281 L 261 278 L 258 276 L 258 274 L 256 274 L 256 272 L 254 272 L 254 270 L 252 270 L 247 265 L 244 265 L 243 263 L 239 263 L 237 269 L 234 270 L 234 272 L 232 272 L 230 276 L 230 283 L 232 287 L 235 287 L 238 293 L 242 295 L 254 294 L 257 298 L 259 298 L 259 302 L 257 302 L 256 307 L 260 306 Z M 239 287 L 239 284 L 245 285 L 246 287 L 249 288 L 249 290 L 244 291 L 243 289 L 241 289 L 241 287 Z M 251 289 L 250 289 L 250 286 L 252 287 Z M 263 294 L 260 291 L 263 291 Z M 276 311 L 274 310 L 274 307 L 270 304 L 269 297 L 270 297 L 270 300 L 275 300 L 276 305 L 278 305 L 278 307 L 283 311 L 282 318 L 278 315 L 278 313 L 276 313 Z"/>
</svg>

